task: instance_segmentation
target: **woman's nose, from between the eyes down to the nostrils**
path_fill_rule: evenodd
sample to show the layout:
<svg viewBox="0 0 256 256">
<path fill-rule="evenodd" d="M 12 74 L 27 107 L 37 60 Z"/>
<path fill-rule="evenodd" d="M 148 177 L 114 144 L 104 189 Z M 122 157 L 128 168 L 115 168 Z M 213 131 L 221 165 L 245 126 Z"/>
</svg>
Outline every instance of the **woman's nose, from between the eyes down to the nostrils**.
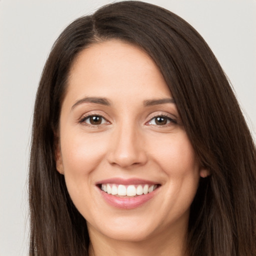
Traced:
<svg viewBox="0 0 256 256">
<path fill-rule="evenodd" d="M 143 136 L 135 125 L 120 125 L 111 136 L 108 162 L 122 168 L 140 166 L 147 161 Z"/>
</svg>

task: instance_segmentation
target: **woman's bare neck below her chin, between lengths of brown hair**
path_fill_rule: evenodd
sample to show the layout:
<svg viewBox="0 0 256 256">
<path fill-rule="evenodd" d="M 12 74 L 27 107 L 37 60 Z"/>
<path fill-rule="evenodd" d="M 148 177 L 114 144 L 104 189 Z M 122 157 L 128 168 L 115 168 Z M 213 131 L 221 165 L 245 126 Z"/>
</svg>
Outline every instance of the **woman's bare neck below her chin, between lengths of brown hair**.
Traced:
<svg viewBox="0 0 256 256">
<path fill-rule="evenodd" d="M 176 231 L 156 234 L 142 241 L 121 241 L 91 230 L 89 256 L 184 256 L 186 231 L 182 228 Z"/>
</svg>

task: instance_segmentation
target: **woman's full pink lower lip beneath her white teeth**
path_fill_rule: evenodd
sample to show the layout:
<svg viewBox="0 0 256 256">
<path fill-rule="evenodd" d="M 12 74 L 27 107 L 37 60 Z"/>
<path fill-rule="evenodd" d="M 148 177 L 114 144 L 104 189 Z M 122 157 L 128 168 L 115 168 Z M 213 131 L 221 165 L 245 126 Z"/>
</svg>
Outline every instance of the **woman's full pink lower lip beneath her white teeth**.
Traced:
<svg viewBox="0 0 256 256">
<path fill-rule="evenodd" d="M 150 193 L 141 194 L 134 197 L 118 197 L 112 194 L 108 194 L 102 191 L 101 189 L 100 189 L 100 192 L 102 197 L 105 199 L 105 201 L 111 206 L 114 206 L 120 209 L 133 209 L 141 206 L 142 204 L 150 200 L 155 195 L 156 190 L 157 188 Z"/>
</svg>

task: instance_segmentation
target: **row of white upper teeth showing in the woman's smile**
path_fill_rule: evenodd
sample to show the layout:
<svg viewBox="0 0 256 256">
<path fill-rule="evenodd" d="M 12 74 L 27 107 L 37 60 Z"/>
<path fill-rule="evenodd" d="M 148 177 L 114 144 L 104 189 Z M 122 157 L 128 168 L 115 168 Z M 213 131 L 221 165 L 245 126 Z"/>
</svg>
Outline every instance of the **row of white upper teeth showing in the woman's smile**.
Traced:
<svg viewBox="0 0 256 256">
<path fill-rule="evenodd" d="M 151 193 L 157 185 L 115 185 L 115 184 L 101 184 L 101 190 L 108 194 L 119 196 L 135 196 L 141 194 Z"/>
</svg>

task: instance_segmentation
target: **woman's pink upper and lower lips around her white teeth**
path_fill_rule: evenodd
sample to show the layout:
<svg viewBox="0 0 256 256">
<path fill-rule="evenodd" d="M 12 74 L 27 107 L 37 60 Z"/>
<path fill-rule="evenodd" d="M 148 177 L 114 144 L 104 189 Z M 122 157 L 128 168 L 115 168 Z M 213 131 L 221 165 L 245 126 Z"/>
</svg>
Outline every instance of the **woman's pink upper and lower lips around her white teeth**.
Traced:
<svg viewBox="0 0 256 256">
<path fill-rule="evenodd" d="M 134 209 L 136 207 L 139 207 L 149 201 L 153 196 L 156 195 L 158 192 L 158 187 L 153 190 L 150 193 L 147 194 L 142 194 L 139 196 L 134 196 L 134 197 L 118 197 L 112 194 L 108 194 L 104 191 L 102 191 L 99 187 L 99 184 L 104 184 L 104 183 L 115 183 L 115 184 L 159 184 L 154 181 L 150 180 L 145 180 L 145 179 L 140 179 L 140 178 L 128 178 L 128 179 L 123 179 L 123 178 L 109 178 L 109 179 L 104 179 L 100 180 L 96 183 L 96 186 L 100 192 L 100 195 L 104 199 L 105 202 L 107 202 L 109 205 L 119 208 L 119 209 Z"/>
</svg>

